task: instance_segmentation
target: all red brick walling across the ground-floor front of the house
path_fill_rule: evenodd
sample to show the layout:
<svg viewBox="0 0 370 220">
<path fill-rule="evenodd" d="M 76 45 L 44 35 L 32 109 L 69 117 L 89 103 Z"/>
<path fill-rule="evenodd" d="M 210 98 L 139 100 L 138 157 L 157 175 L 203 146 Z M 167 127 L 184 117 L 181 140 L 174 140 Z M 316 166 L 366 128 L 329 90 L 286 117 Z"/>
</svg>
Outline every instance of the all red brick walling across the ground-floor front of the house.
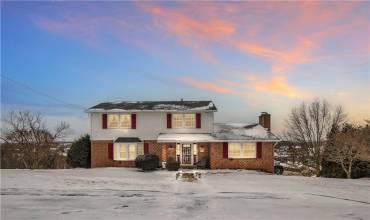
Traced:
<svg viewBox="0 0 370 220">
<path fill-rule="evenodd" d="M 91 142 L 91 167 L 134 167 L 134 161 L 114 161 L 108 159 L 108 143 L 112 141 Z M 170 156 L 176 158 L 175 143 L 158 143 L 156 141 L 145 141 L 149 143 L 149 154 L 159 156 L 161 162 Z M 272 173 L 274 171 L 273 157 L 274 143 L 262 144 L 262 158 L 259 159 L 232 159 L 222 157 L 222 143 L 198 143 L 198 160 L 203 157 L 210 159 L 211 169 L 252 169 L 263 170 Z"/>
</svg>

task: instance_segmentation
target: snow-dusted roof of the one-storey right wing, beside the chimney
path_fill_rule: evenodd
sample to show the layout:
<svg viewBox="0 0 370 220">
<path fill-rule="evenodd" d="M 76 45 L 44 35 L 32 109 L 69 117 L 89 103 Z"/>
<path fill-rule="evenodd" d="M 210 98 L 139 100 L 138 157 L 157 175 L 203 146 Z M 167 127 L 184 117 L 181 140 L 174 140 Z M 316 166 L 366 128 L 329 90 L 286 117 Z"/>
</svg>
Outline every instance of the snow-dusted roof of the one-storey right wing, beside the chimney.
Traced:
<svg viewBox="0 0 370 220">
<path fill-rule="evenodd" d="M 215 123 L 212 136 L 216 140 L 278 141 L 279 138 L 259 124 Z"/>
</svg>

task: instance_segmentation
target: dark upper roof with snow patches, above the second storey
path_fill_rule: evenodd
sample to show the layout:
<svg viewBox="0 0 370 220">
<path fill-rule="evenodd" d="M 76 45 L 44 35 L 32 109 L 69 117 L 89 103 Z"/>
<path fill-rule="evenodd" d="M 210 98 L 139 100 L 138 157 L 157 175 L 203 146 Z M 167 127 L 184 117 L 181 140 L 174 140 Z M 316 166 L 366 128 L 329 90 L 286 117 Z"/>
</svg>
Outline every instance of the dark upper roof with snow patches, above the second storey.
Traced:
<svg viewBox="0 0 370 220">
<path fill-rule="evenodd" d="M 139 101 L 103 102 L 87 112 L 138 112 L 138 111 L 217 111 L 212 101 Z"/>
</svg>

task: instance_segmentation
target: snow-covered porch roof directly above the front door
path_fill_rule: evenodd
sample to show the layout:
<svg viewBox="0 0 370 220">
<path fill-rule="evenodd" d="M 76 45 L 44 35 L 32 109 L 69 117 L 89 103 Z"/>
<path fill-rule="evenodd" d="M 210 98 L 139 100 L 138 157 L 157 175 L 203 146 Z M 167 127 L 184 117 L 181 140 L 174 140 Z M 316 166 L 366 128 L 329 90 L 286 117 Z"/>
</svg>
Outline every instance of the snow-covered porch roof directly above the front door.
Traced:
<svg viewBox="0 0 370 220">
<path fill-rule="evenodd" d="M 191 133 L 161 133 L 157 138 L 158 142 L 211 142 L 215 138 L 211 134 Z"/>
</svg>

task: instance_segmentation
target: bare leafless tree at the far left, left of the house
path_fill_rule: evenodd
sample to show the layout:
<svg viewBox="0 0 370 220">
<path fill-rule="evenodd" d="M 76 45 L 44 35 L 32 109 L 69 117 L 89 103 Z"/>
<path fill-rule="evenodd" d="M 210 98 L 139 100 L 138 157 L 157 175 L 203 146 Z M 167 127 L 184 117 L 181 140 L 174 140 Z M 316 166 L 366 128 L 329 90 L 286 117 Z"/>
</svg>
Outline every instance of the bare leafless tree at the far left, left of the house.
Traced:
<svg viewBox="0 0 370 220">
<path fill-rule="evenodd" d="M 50 150 L 69 129 L 68 124 L 61 122 L 51 132 L 41 114 L 30 111 L 12 111 L 4 122 L 6 130 L 1 132 L 1 139 L 16 149 L 24 167 L 30 169 L 46 168 Z"/>
</svg>

